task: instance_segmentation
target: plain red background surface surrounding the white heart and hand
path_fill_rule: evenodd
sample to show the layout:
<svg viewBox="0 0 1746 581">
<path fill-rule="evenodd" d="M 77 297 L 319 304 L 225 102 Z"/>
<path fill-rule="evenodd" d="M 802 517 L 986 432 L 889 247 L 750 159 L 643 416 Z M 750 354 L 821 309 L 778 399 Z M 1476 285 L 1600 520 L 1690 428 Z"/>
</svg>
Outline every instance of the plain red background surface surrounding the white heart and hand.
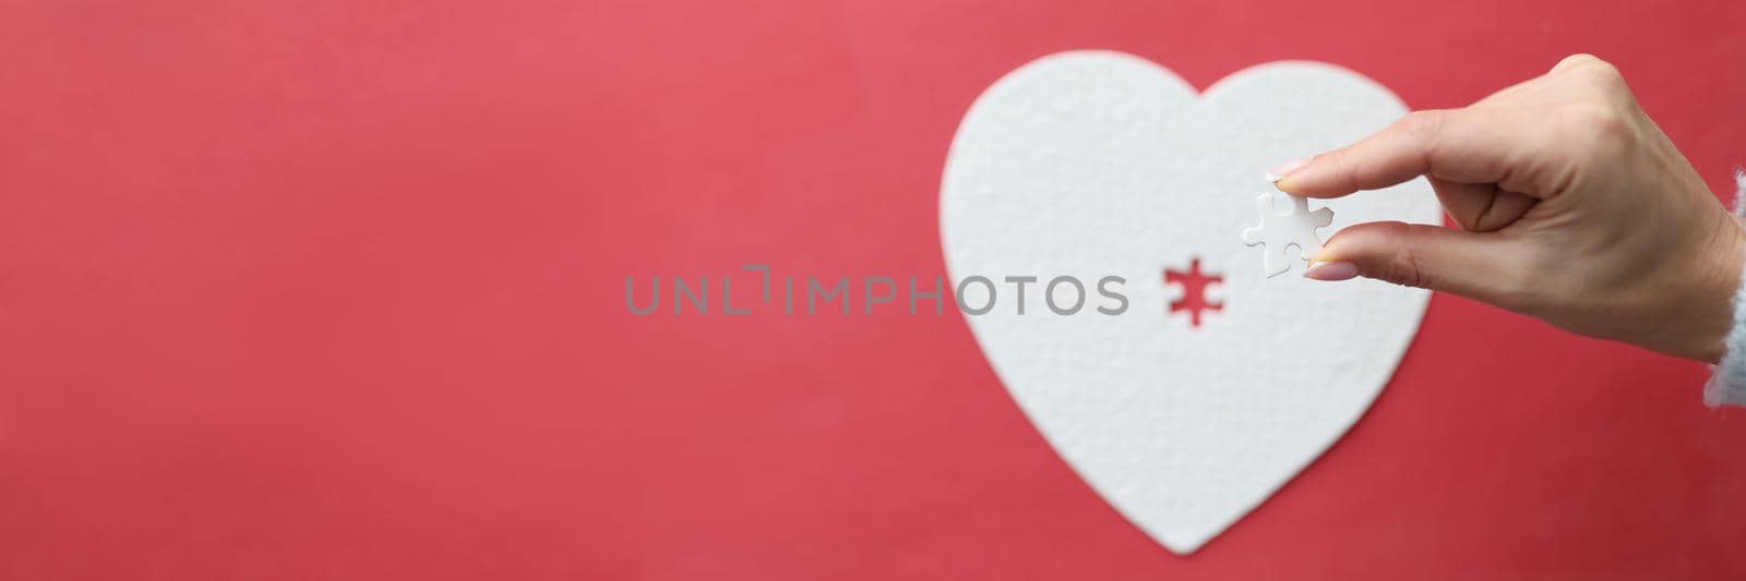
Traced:
<svg viewBox="0 0 1746 581">
<path fill-rule="evenodd" d="M 1722 192 L 1746 3 L 1603 5 L 0 2 L 0 576 L 1739 579 L 1746 420 L 1704 366 L 1453 297 L 1189 558 L 957 314 L 623 305 L 943 274 L 966 106 L 1081 47 L 1414 108 L 1598 52 Z"/>
</svg>

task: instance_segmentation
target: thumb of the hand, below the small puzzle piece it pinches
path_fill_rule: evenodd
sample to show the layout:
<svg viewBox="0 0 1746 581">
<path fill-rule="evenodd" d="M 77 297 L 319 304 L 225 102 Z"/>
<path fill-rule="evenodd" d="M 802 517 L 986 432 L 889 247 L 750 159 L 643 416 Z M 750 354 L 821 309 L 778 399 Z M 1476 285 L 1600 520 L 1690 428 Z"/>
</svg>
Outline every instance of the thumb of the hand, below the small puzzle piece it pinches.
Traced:
<svg viewBox="0 0 1746 581">
<path fill-rule="evenodd" d="M 1461 295 L 1495 305 L 1516 304 L 1523 269 L 1509 237 L 1439 225 L 1371 222 L 1334 234 L 1311 256 L 1306 277 L 1351 276 Z"/>
</svg>

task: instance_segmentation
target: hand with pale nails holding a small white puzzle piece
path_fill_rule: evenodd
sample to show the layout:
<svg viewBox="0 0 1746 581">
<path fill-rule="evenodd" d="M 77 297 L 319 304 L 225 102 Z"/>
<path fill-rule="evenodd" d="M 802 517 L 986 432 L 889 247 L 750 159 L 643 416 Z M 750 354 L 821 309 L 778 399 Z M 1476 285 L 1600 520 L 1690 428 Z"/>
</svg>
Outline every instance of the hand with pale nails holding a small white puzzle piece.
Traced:
<svg viewBox="0 0 1746 581">
<path fill-rule="evenodd" d="M 1339 197 L 1426 176 L 1456 229 L 1337 232 L 1304 276 L 1365 276 L 1559 328 L 1718 361 L 1746 236 L 1612 65 L 1578 54 L 1456 110 L 1414 112 L 1357 145 L 1275 169 Z"/>
</svg>

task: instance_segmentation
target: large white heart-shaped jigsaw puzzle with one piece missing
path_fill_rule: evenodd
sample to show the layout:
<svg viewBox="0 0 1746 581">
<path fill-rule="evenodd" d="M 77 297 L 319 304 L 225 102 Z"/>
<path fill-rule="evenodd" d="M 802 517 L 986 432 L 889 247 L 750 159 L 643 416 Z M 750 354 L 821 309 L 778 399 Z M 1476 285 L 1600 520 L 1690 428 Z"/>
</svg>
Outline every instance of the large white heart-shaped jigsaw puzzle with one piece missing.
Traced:
<svg viewBox="0 0 1746 581">
<path fill-rule="evenodd" d="M 1351 427 L 1418 332 L 1428 291 L 1376 281 L 1262 277 L 1257 194 L 1273 164 L 1406 113 L 1388 89 L 1320 63 L 1268 63 L 1205 94 L 1131 54 L 1072 51 L 1007 73 L 964 115 L 941 187 L 953 281 L 985 276 L 997 307 L 967 314 L 995 373 L 1063 459 L 1117 511 L 1191 553 Z M 1439 223 L 1425 180 L 1329 202 L 1336 229 Z M 1266 251 L 1280 251 L 1268 248 Z M 1165 269 L 1224 276 L 1222 312 L 1194 328 Z M 1123 276 L 1119 316 L 1093 281 Z M 1037 276 L 1016 314 L 1007 276 Z M 1042 283 L 1077 276 L 1090 302 L 1058 316 Z M 988 298 L 967 286 L 969 307 Z M 1058 305 L 1072 288 L 1056 288 Z"/>
</svg>

